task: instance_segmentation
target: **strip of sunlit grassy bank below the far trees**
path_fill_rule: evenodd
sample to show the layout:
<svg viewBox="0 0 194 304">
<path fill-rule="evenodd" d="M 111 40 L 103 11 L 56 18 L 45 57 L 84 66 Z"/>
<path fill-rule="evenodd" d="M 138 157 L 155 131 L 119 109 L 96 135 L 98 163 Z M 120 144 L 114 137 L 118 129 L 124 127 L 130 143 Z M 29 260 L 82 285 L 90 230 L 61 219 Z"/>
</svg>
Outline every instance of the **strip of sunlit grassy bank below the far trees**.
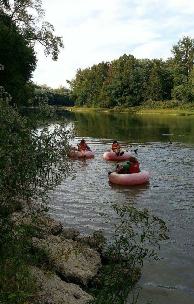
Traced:
<svg viewBox="0 0 194 304">
<path fill-rule="evenodd" d="M 120 108 L 77 108 L 77 107 L 54 107 L 54 109 L 64 109 L 73 112 L 117 112 L 117 113 L 133 113 L 133 114 L 161 114 L 161 115 L 194 115 L 194 110 L 181 110 L 177 108 L 173 109 L 145 109 L 142 106 L 131 107 L 127 109 Z"/>
</svg>

